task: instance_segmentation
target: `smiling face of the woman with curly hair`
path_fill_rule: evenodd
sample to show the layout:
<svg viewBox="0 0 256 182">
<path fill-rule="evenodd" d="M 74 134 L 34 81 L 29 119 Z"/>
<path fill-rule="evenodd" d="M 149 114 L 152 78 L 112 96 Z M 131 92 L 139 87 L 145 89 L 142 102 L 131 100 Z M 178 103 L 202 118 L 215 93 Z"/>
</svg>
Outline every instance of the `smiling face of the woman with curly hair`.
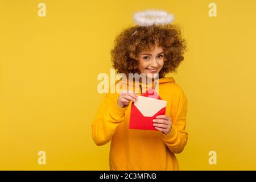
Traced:
<svg viewBox="0 0 256 182">
<path fill-rule="evenodd" d="M 139 70 L 147 77 L 155 78 L 164 65 L 163 48 L 155 45 L 150 51 L 142 51 L 138 55 Z M 151 74 L 148 74 L 151 73 Z"/>
</svg>

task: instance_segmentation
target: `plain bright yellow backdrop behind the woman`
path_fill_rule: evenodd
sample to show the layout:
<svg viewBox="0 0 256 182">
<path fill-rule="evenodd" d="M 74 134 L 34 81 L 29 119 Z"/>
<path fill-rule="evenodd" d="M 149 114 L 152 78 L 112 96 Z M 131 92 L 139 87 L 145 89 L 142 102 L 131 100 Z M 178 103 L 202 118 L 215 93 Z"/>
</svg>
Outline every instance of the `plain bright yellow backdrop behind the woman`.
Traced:
<svg viewBox="0 0 256 182">
<path fill-rule="evenodd" d="M 40 2 L 46 17 L 38 16 Z M 104 97 L 97 75 L 110 73 L 115 36 L 146 9 L 173 13 L 188 42 L 170 75 L 188 97 L 180 169 L 256 169 L 256 1 L 0 3 L 0 169 L 109 169 L 110 143 L 98 147 L 91 137 Z M 40 150 L 46 165 L 38 164 Z M 212 150 L 216 165 L 208 163 Z"/>
</svg>

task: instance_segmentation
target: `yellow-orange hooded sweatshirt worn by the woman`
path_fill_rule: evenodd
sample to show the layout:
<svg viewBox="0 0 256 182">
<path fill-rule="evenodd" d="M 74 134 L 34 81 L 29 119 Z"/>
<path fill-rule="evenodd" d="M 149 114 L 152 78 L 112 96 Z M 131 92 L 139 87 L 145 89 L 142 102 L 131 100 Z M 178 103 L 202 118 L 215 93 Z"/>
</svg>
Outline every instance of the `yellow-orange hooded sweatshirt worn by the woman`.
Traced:
<svg viewBox="0 0 256 182">
<path fill-rule="evenodd" d="M 143 88 L 139 94 L 148 88 L 141 82 L 139 85 Z M 188 139 L 187 97 L 173 77 L 160 78 L 158 92 L 167 101 L 166 115 L 172 122 L 167 135 L 161 131 L 129 129 L 131 102 L 122 108 L 117 105 L 117 92 L 104 97 L 92 122 L 92 137 L 97 146 L 111 141 L 110 170 L 179 170 L 175 154 L 183 151 Z"/>
</svg>

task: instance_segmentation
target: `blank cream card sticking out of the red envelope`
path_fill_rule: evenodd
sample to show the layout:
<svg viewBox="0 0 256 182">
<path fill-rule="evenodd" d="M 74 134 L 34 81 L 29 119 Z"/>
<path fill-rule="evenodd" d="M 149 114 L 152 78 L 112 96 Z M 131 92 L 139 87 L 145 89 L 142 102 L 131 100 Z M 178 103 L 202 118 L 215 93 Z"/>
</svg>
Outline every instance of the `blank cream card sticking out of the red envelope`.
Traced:
<svg viewBox="0 0 256 182">
<path fill-rule="evenodd" d="M 166 107 L 166 104 L 167 101 L 144 96 L 138 96 L 138 99 L 134 102 L 134 106 L 141 111 L 144 117 L 152 117 L 163 107 Z"/>
</svg>

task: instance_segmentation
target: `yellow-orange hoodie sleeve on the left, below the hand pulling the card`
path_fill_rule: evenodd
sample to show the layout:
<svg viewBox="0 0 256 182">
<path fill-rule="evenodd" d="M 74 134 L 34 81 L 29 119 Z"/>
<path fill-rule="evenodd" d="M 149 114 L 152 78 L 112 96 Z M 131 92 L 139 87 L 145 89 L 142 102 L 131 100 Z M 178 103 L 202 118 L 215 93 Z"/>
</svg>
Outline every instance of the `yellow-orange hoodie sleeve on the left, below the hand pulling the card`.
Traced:
<svg viewBox="0 0 256 182">
<path fill-rule="evenodd" d="M 107 93 L 101 102 L 96 118 L 92 122 L 92 138 L 97 146 L 112 139 L 117 126 L 125 118 L 127 107 L 119 107 L 113 93 Z"/>
</svg>

